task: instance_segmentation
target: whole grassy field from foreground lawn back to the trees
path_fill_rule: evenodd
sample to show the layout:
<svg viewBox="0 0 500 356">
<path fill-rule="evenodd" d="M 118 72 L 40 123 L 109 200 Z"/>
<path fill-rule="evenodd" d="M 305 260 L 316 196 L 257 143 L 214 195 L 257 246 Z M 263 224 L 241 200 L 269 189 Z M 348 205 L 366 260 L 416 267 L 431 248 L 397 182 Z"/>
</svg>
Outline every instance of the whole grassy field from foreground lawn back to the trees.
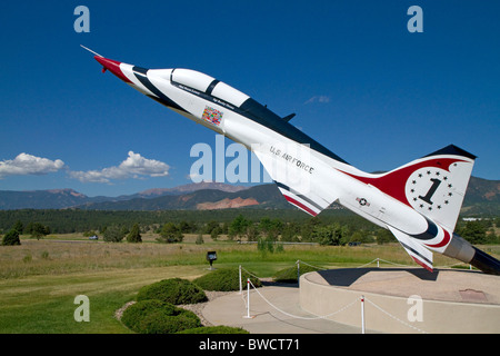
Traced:
<svg viewBox="0 0 500 356">
<path fill-rule="evenodd" d="M 414 265 L 397 244 L 287 245 L 282 253 L 262 255 L 256 245 L 203 239 L 204 244 L 196 245 L 196 236 L 188 236 L 182 244 L 163 245 L 146 236 L 142 244 L 111 244 L 73 234 L 21 238 L 21 246 L 0 246 L 0 334 L 129 333 L 114 318 L 116 310 L 133 300 L 144 285 L 209 273 L 209 250 L 217 251 L 216 268 L 242 265 L 259 277 L 293 268 L 298 259 L 322 268 L 358 267 L 376 258 Z M 499 256 L 498 246 L 489 248 L 488 253 Z M 443 256 L 434 258 L 436 266 L 457 264 Z M 89 323 L 74 320 L 78 295 L 89 297 Z"/>
</svg>

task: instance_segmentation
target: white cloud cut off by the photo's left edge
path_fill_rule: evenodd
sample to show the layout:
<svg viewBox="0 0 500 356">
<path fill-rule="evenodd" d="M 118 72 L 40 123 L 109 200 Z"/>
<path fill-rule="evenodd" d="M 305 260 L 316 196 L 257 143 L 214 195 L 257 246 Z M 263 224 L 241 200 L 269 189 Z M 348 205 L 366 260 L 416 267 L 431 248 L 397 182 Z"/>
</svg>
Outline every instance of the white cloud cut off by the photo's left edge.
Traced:
<svg viewBox="0 0 500 356">
<path fill-rule="evenodd" d="M 64 168 L 60 159 L 36 157 L 20 154 L 12 160 L 0 161 L 0 179 L 7 176 L 47 175 Z"/>
</svg>

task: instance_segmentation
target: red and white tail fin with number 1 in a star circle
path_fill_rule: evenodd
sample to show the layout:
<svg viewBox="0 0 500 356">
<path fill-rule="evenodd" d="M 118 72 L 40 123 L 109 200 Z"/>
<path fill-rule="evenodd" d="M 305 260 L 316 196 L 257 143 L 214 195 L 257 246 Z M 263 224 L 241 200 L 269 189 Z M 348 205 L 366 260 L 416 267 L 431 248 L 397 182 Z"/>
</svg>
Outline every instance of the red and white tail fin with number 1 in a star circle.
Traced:
<svg viewBox="0 0 500 356">
<path fill-rule="evenodd" d="M 476 156 L 447 146 L 390 172 L 356 177 L 454 230 Z"/>
</svg>

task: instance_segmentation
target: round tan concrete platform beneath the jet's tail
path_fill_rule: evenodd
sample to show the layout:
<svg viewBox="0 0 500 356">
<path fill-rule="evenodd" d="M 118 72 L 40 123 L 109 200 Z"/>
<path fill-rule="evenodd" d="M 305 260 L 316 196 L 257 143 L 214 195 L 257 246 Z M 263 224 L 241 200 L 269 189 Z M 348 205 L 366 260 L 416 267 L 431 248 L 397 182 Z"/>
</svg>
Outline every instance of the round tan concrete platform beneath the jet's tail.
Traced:
<svg viewBox="0 0 500 356">
<path fill-rule="evenodd" d="M 300 307 L 317 316 L 364 296 L 366 328 L 381 333 L 500 333 L 500 277 L 468 270 L 347 268 L 302 275 Z M 361 303 L 360 303 L 361 305 Z M 352 309 L 352 308 L 350 308 Z M 330 317 L 329 317 L 330 318 Z M 361 325 L 361 307 L 331 319 Z"/>
</svg>

